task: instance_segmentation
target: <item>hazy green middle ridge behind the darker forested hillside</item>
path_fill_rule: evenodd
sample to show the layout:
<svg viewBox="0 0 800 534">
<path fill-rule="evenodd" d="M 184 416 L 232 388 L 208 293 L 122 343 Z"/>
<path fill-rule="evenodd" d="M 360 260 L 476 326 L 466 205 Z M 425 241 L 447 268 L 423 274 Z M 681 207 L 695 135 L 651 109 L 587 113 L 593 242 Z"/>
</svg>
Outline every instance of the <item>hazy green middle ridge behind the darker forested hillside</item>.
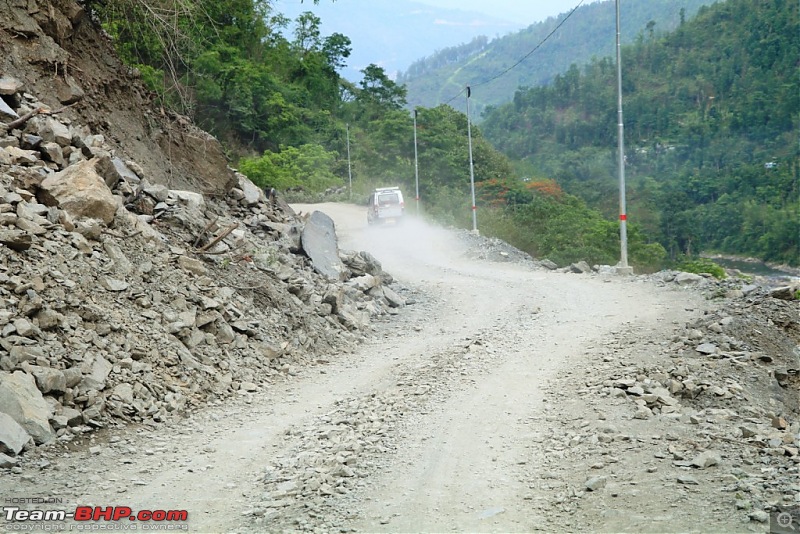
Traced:
<svg viewBox="0 0 800 534">
<path fill-rule="evenodd" d="M 623 43 L 643 39 L 650 33 L 675 29 L 703 5 L 715 0 L 637 0 L 620 8 Z M 472 42 L 443 49 L 414 62 L 400 73 L 397 82 L 408 88 L 410 106 L 435 107 L 450 103 L 465 111 L 465 99 L 453 97 L 467 85 L 472 87 L 473 116 L 486 106 L 510 101 L 519 87 L 547 85 L 570 65 L 588 63 L 592 57 L 613 56 L 616 42 L 614 0 L 579 7 L 564 22 L 567 13 L 533 24 L 516 33 L 493 40 Z M 558 28 L 540 48 L 514 66 Z M 513 68 L 512 68 L 513 67 Z M 500 75 L 506 69 L 511 69 Z M 498 77 L 498 75 L 500 75 Z M 496 78 L 496 79 L 494 79 Z"/>
</svg>

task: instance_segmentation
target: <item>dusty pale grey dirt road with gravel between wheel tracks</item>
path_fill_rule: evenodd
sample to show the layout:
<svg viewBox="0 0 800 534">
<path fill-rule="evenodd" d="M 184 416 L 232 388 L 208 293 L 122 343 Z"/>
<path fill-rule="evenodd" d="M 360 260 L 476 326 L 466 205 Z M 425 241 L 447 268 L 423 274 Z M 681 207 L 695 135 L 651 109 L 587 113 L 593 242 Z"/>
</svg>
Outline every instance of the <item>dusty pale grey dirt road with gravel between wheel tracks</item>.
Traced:
<svg viewBox="0 0 800 534">
<path fill-rule="evenodd" d="M 470 260 L 447 231 L 367 228 L 360 207 L 296 209 L 328 213 L 340 246 L 371 252 L 412 303 L 354 353 L 167 428 L 43 453 L 2 494 L 185 509 L 195 532 L 569 525 L 530 483 L 546 478 L 545 386 L 620 332 L 668 338 L 698 302 L 635 278 Z"/>
</svg>

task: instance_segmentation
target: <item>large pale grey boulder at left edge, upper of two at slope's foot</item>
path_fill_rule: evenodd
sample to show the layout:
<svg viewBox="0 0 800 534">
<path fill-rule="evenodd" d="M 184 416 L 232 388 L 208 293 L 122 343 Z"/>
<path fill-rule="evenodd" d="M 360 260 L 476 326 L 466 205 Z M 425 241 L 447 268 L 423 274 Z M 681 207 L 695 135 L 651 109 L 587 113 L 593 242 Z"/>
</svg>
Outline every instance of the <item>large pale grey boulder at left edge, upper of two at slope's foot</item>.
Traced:
<svg viewBox="0 0 800 534">
<path fill-rule="evenodd" d="M 16 421 L 37 444 L 55 438 L 50 428 L 50 408 L 36 381 L 27 373 L 0 372 L 0 412 Z"/>
</svg>

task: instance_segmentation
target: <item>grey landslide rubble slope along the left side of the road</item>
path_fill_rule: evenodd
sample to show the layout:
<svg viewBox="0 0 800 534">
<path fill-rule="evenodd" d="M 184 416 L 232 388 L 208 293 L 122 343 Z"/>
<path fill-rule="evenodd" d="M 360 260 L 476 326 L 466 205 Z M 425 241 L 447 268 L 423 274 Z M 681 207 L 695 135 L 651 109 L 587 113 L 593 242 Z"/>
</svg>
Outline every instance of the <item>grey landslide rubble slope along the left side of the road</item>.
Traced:
<svg viewBox="0 0 800 534">
<path fill-rule="evenodd" d="M 404 305 L 326 215 L 233 171 L 170 189 L 35 91 L 0 78 L 0 464 L 258 391 Z"/>
</svg>

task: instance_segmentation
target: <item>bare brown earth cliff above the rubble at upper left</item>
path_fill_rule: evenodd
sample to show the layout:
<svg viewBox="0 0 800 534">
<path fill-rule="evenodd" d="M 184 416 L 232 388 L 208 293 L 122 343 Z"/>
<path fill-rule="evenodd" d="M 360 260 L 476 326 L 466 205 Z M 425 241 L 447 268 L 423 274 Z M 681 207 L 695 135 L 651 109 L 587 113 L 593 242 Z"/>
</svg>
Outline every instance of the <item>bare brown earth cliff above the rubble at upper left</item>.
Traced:
<svg viewBox="0 0 800 534">
<path fill-rule="evenodd" d="M 0 121 L 34 109 L 17 108 L 15 100 L 36 94 L 47 110 L 72 105 L 59 118 L 102 132 L 116 155 L 136 161 L 151 182 L 218 195 L 236 185 L 219 142 L 152 105 L 138 72 L 122 65 L 80 2 L 8 0 L 0 28 Z"/>
</svg>

